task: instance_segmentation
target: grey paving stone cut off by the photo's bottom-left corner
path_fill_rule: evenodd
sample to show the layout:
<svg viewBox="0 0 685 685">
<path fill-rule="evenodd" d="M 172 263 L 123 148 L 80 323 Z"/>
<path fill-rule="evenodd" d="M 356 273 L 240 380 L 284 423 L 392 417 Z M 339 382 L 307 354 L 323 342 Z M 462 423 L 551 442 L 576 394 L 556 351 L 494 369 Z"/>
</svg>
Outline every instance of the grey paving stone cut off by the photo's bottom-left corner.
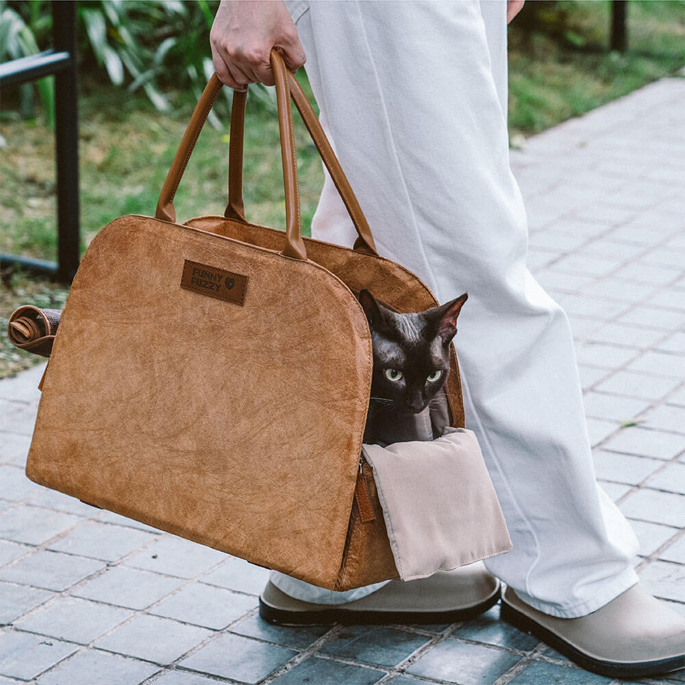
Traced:
<svg viewBox="0 0 685 685">
<path fill-rule="evenodd" d="M 0 634 L 0 675 L 32 680 L 77 649 L 60 640 L 10 630 Z"/>
</svg>

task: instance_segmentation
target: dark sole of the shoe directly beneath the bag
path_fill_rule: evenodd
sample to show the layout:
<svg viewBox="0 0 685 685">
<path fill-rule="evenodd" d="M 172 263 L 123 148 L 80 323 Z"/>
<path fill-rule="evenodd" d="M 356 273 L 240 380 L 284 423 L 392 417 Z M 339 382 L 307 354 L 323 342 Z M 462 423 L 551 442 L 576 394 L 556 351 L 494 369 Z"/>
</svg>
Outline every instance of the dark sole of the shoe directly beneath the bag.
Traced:
<svg viewBox="0 0 685 685">
<path fill-rule="evenodd" d="M 343 608 L 331 608 L 314 611 L 291 611 L 278 609 L 259 600 L 259 615 L 264 621 L 275 625 L 382 625 L 403 623 L 406 625 L 432 625 L 435 623 L 456 623 L 469 621 L 497 604 L 501 597 L 501 586 L 482 602 L 463 609 L 451 611 L 364 611 Z"/>
</svg>

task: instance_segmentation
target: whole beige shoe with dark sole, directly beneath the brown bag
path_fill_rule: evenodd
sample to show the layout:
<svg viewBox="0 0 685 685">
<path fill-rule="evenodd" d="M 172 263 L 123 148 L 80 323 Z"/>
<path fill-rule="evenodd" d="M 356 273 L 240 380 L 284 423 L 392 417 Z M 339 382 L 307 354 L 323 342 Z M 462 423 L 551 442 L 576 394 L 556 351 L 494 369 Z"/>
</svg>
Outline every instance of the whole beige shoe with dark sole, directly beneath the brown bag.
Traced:
<svg viewBox="0 0 685 685">
<path fill-rule="evenodd" d="M 482 564 L 471 564 L 421 580 L 391 580 L 371 595 L 335 605 L 294 599 L 269 582 L 259 614 L 279 625 L 454 623 L 487 611 L 500 595 L 499 580 Z"/>
</svg>

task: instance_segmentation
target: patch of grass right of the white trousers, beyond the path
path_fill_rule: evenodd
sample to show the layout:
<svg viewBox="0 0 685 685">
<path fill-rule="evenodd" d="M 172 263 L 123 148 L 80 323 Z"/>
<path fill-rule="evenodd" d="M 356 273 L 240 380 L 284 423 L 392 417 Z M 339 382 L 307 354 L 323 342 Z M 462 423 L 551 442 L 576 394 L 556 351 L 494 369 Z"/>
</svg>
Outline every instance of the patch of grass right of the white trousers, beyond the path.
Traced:
<svg viewBox="0 0 685 685">
<path fill-rule="evenodd" d="M 593 110 L 685 64 L 685 2 L 627 3 L 625 53 L 610 52 L 610 2 L 524 6 L 509 30 L 509 128 L 528 136 Z M 566 20 L 561 21 L 562 13 Z"/>
</svg>

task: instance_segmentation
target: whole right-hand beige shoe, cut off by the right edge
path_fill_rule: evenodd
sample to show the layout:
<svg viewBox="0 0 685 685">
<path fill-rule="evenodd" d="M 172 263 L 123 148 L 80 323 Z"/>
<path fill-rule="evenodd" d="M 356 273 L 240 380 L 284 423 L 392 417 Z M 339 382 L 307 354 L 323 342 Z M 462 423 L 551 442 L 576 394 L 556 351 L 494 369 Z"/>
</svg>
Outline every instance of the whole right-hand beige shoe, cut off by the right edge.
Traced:
<svg viewBox="0 0 685 685">
<path fill-rule="evenodd" d="M 543 614 L 507 588 L 501 618 L 599 675 L 634 678 L 685 668 L 685 618 L 639 584 L 578 619 Z"/>
</svg>

